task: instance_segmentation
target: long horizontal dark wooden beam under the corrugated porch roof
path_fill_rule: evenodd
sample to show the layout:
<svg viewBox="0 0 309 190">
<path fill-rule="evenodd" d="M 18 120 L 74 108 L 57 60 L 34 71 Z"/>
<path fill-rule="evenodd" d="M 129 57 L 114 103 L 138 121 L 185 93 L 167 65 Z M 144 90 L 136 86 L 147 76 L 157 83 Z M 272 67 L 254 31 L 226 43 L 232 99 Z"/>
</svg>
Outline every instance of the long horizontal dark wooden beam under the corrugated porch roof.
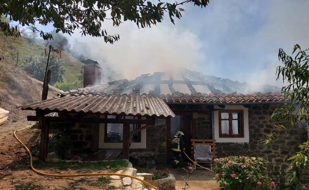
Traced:
<svg viewBox="0 0 309 190">
<path fill-rule="evenodd" d="M 28 121 L 39 121 L 39 116 L 28 115 Z M 66 123 L 125 123 L 132 124 L 154 124 L 153 119 L 114 119 L 114 118 L 76 118 L 76 117 L 53 117 L 44 116 L 49 122 L 66 122 Z"/>
</svg>

